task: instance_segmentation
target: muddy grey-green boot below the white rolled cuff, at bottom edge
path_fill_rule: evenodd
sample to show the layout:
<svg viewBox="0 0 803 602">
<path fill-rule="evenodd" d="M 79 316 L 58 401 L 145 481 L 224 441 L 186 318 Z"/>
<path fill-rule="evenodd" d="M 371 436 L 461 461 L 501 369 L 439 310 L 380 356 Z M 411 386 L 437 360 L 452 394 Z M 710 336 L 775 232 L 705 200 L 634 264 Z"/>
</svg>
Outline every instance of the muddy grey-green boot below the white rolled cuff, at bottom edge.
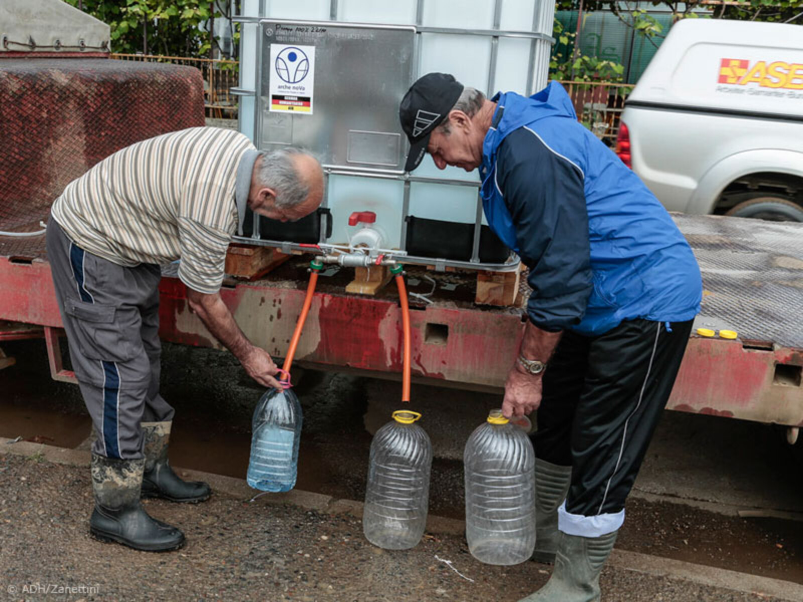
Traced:
<svg viewBox="0 0 803 602">
<path fill-rule="evenodd" d="M 543 588 L 519 602 L 599 602 L 600 571 L 617 533 L 600 537 L 561 533 L 552 576 Z"/>
</svg>

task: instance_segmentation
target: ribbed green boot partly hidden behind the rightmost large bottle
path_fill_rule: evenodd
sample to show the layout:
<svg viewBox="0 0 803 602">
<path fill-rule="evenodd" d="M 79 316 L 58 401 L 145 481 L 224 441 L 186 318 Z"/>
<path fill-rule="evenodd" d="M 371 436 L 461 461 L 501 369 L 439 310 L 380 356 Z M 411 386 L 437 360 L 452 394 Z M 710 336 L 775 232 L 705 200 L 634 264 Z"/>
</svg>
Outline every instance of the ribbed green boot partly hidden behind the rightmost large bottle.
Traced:
<svg viewBox="0 0 803 602">
<path fill-rule="evenodd" d="M 571 466 L 557 466 L 536 458 L 536 549 L 532 552 L 536 562 L 555 562 L 560 535 L 557 509 L 565 500 L 571 481 Z"/>
</svg>

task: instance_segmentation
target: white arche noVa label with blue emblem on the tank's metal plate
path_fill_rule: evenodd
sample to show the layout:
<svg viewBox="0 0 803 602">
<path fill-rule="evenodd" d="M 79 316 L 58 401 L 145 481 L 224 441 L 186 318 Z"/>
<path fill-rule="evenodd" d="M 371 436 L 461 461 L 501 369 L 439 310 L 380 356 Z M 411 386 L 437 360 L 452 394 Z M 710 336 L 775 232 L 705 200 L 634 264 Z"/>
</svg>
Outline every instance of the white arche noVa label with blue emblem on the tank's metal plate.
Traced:
<svg viewBox="0 0 803 602">
<path fill-rule="evenodd" d="M 312 115 L 314 92 L 315 47 L 271 44 L 269 110 Z"/>
</svg>

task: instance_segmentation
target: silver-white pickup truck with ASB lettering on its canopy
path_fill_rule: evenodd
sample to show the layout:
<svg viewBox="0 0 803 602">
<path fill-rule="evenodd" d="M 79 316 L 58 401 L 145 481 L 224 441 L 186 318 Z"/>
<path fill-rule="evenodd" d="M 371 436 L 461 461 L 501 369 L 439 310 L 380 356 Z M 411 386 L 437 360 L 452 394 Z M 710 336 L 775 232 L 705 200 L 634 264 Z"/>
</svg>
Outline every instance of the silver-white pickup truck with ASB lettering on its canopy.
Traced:
<svg viewBox="0 0 803 602">
<path fill-rule="evenodd" d="M 617 153 L 667 209 L 803 222 L 803 26 L 677 23 Z"/>
</svg>

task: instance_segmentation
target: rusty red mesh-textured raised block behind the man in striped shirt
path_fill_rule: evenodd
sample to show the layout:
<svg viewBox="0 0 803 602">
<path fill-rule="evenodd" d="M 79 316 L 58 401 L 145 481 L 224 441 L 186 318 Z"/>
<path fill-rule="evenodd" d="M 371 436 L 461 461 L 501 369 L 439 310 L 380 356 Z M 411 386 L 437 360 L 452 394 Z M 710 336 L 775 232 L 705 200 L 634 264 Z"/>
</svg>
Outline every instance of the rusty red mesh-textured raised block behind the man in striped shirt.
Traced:
<svg viewBox="0 0 803 602">
<path fill-rule="evenodd" d="M 110 59 L 0 59 L 0 230 L 39 230 L 70 181 L 129 144 L 204 124 L 193 67 Z M 0 237 L 38 257 L 43 237 Z"/>
</svg>

